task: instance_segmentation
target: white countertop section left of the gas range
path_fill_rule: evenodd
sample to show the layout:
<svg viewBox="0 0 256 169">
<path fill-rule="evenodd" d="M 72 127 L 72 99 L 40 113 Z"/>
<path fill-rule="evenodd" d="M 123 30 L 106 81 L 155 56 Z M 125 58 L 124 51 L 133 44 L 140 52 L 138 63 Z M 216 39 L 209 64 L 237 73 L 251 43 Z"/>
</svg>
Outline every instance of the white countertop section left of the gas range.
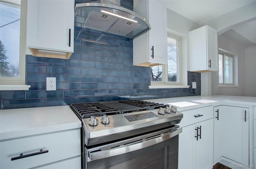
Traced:
<svg viewBox="0 0 256 169">
<path fill-rule="evenodd" d="M 0 110 L 0 141 L 81 128 L 69 106 Z"/>
</svg>

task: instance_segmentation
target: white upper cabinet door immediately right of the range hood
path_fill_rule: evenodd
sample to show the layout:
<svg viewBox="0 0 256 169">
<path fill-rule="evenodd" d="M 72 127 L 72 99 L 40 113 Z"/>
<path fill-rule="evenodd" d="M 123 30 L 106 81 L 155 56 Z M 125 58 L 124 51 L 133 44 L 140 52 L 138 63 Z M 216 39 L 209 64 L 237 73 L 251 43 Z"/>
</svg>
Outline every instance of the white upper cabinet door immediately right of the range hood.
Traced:
<svg viewBox="0 0 256 169">
<path fill-rule="evenodd" d="M 167 16 L 166 6 L 156 1 L 149 1 L 149 61 L 167 63 Z"/>
</svg>

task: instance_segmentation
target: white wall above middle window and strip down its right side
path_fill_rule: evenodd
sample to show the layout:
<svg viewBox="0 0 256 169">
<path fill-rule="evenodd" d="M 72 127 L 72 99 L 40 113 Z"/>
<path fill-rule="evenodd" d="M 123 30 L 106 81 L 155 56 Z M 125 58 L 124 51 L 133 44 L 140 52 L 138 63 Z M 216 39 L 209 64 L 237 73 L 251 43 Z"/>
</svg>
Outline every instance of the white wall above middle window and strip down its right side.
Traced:
<svg viewBox="0 0 256 169">
<path fill-rule="evenodd" d="M 199 28 L 199 24 L 167 8 L 167 31 L 182 37 L 182 85 L 187 85 L 189 70 L 188 32 Z"/>
</svg>

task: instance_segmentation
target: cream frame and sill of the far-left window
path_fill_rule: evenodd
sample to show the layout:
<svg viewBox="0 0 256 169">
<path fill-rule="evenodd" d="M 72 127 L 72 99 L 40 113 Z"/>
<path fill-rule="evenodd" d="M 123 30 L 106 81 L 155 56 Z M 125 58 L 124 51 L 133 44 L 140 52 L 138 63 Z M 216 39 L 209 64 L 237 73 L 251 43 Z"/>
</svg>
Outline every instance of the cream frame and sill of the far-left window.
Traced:
<svg viewBox="0 0 256 169">
<path fill-rule="evenodd" d="M 28 90 L 30 85 L 25 85 L 27 0 L 21 0 L 20 4 L 15 0 L 1 1 L 20 5 L 20 57 L 19 77 L 0 77 L 0 90 Z"/>
</svg>

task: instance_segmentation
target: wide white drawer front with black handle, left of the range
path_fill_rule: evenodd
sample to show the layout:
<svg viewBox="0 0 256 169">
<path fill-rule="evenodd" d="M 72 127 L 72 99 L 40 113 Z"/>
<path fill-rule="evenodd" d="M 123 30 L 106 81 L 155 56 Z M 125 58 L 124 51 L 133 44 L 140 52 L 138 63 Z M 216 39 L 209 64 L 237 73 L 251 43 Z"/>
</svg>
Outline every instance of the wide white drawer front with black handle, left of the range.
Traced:
<svg viewBox="0 0 256 169">
<path fill-rule="evenodd" d="M 75 157 L 81 155 L 80 146 L 80 129 L 2 141 L 0 168 L 25 169 Z M 41 149 L 48 152 L 38 154 Z M 28 157 L 15 159 L 21 154 Z"/>
</svg>

